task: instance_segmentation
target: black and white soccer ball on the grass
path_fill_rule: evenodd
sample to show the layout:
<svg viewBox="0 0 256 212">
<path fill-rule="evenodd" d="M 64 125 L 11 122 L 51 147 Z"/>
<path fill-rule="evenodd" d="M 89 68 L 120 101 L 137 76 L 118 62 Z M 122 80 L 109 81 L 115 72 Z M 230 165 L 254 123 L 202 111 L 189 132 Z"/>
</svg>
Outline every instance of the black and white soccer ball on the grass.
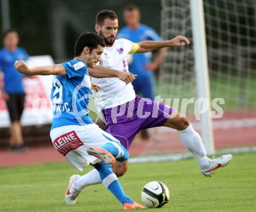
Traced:
<svg viewBox="0 0 256 212">
<path fill-rule="evenodd" d="M 169 199 L 169 189 L 162 182 L 148 182 L 141 191 L 141 200 L 149 208 L 162 207 Z"/>
</svg>

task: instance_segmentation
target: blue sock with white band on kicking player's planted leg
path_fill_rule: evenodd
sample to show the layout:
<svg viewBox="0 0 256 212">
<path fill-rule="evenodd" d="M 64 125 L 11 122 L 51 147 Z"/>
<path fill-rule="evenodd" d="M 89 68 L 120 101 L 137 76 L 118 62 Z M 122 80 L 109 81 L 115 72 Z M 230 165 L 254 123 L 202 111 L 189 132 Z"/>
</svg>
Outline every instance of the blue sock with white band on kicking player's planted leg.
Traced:
<svg viewBox="0 0 256 212">
<path fill-rule="evenodd" d="M 95 169 L 98 170 L 99 176 L 101 176 L 102 183 L 106 188 L 109 189 L 115 195 L 116 199 L 119 200 L 120 203 L 133 203 L 133 200 L 129 198 L 123 191 L 118 178 L 112 171 L 112 167 L 110 165 L 106 165 L 105 163 L 97 163 L 95 165 Z"/>
</svg>

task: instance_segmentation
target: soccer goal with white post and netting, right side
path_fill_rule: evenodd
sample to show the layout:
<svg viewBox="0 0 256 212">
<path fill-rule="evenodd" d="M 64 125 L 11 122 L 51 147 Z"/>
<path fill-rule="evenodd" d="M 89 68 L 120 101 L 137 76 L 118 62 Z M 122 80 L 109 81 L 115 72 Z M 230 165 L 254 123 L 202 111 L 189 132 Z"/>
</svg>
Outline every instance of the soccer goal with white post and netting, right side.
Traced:
<svg viewBox="0 0 256 212">
<path fill-rule="evenodd" d="M 158 93 L 172 100 L 223 100 L 219 103 L 223 115 L 218 119 L 211 120 L 208 110 L 199 123 L 194 102 L 186 111 L 195 128 L 201 126 L 209 155 L 224 140 L 231 144 L 240 139 L 249 145 L 256 126 L 256 2 L 161 0 L 161 4 L 162 38 L 183 35 L 191 44 L 168 49 L 159 70 Z"/>
</svg>

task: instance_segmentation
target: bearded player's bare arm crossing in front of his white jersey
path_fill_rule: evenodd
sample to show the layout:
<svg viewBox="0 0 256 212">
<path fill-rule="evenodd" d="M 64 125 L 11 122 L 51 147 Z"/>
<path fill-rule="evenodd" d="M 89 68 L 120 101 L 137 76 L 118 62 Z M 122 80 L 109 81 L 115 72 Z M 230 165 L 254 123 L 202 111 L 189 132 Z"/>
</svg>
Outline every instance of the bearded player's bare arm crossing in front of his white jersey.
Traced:
<svg viewBox="0 0 256 212">
<path fill-rule="evenodd" d="M 112 70 L 102 65 L 96 65 L 95 68 L 88 68 L 90 76 L 95 78 L 109 78 L 117 77 L 125 83 L 133 82 L 137 75 L 131 74 L 130 72 L 122 72 L 118 70 Z"/>
</svg>

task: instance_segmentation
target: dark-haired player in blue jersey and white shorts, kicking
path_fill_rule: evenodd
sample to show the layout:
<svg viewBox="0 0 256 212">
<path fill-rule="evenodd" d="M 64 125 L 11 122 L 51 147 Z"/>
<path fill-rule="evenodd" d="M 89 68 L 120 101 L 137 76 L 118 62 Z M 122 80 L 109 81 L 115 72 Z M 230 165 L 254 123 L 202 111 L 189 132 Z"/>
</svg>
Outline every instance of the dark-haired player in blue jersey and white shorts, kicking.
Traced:
<svg viewBox="0 0 256 212">
<path fill-rule="evenodd" d="M 143 209 L 143 206 L 125 194 L 111 167 L 116 160 L 123 162 L 129 158 L 127 149 L 116 138 L 99 129 L 88 116 L 88 97 L 91 89 L 99 87 L 91 87 L 87 67 L 95 67 L 104 46 L 104 39 L 100 36 L 85 32 L 76 41 L 73 60 L 35 68 L 28 68 L 24 61 L 16 61 L 15 68 L 26 75 L 56 75 L 51 93 L 54 104 L 50 132 L 52 144 L 80 171 L 89 164 L 93 165 L 105 187 L 125 209 Z M 70 177 L 66 191 L 67 204 L 76 203 L 81 185 L 83 178 L 80 179 L 79 175 Z"/>
</svg>

